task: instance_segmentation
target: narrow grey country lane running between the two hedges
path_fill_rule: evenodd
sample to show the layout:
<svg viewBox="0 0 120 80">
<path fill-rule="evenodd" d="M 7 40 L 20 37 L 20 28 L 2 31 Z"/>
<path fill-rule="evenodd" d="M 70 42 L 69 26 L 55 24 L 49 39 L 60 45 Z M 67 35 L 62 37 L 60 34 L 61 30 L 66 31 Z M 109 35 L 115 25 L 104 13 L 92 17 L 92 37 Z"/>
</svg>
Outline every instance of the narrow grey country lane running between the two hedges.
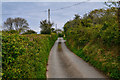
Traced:
<svg viewBox="0 0 120 80">
<path fill-rule="evenodd" d="M 63 38 L 58 38 L 51 49 L 47 78 L 105 78 L 94 67 L 72 53 Z"/>
</svg>

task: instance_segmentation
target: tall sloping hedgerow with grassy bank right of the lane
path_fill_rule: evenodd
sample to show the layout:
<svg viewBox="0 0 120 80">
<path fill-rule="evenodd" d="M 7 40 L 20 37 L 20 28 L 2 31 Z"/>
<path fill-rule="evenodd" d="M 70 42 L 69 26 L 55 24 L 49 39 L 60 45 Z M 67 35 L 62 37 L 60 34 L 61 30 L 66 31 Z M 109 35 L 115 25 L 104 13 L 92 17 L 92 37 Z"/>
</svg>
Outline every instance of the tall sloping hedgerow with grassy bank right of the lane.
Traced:
<svg viewBox="0 0 120 80">
<path fill-rule="evenodd" d="M 68 47 L 110 78 L 120 79 L 117 9 L 96 9 L 64 25 Z"/>
</svg>

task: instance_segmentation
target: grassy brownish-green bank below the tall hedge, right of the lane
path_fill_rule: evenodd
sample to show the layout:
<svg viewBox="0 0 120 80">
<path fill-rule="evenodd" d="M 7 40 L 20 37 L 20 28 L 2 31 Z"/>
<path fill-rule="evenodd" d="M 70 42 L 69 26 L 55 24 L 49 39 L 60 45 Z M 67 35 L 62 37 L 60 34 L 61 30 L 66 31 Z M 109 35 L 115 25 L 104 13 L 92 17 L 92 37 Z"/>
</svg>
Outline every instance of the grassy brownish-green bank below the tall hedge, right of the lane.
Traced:
<svg viewBox="0 0 120 80">
<path fill-rule="evenodd" d="M 120 79 L 120 56 L 115 54 L 119 51 L 118 46 L 105 49 L 105 46 L 103 47 L 100 42 L 91 41 L 78 50 L 68 41 L 66 45 L 77 56 L 102 71 L 109 78 Z"/>
</svg>

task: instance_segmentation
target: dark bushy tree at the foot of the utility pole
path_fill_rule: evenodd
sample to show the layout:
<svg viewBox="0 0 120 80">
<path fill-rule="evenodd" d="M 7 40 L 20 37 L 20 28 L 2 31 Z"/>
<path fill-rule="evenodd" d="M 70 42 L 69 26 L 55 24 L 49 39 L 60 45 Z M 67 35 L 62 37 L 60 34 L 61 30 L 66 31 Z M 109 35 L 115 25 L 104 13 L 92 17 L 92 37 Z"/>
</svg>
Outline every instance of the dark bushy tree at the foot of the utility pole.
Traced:
<svg viewBox="0 0 120 80">
<path fill-rule="evenodd" d="M 40 21 L 41 34 L 51 34 L 53 23 L 48 23 L 47 20 Z"/>
</svg>

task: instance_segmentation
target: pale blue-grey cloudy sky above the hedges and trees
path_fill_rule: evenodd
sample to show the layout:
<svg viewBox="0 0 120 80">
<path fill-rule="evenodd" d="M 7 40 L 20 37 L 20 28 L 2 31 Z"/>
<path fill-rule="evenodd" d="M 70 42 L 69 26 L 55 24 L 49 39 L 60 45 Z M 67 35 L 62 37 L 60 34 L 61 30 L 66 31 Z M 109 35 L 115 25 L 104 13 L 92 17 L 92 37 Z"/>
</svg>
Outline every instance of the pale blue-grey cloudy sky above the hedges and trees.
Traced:
<svg viewBox="0 0 120 80">
<path fill-rule="evenodd" d="M 83 16 L 91 10 L 106 7 L 104 2 L 81 2 L 81 4 L 70 8 L 52 11 L 76 3 L 80 2 L 2 2 L 2 23 L 9 17 L 21 17 L 28 21 L 31 29 L 39 32 L 40 21 L 45 20 L 48 17 L 47 12 L 41 11 L 50 9 L 51 22 L 54 22 L 57 24 L 58 28 L 62 29 L 67 21 L 74 18 L 75 14 Z"/>
</svg>

